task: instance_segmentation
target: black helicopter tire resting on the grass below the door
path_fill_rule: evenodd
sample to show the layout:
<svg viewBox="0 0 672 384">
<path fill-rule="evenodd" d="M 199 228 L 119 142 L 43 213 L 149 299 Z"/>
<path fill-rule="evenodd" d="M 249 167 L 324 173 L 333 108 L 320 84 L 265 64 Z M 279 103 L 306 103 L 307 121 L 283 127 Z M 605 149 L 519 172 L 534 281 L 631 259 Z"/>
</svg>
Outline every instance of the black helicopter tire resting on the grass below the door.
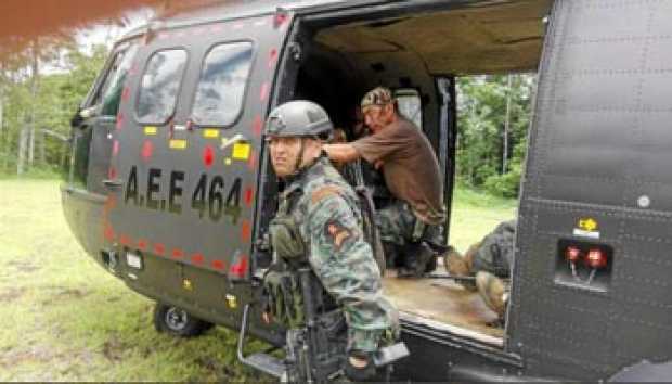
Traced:
<svg viewBox="0 0 672 384">
<path fill-rule="evenodd" d="M 154 306 L 154 329 L 177 337 L 195 337 L 212 328 L 212 323 L 201 320 L 182 308 L 156 303 Z"/>
</svg>

